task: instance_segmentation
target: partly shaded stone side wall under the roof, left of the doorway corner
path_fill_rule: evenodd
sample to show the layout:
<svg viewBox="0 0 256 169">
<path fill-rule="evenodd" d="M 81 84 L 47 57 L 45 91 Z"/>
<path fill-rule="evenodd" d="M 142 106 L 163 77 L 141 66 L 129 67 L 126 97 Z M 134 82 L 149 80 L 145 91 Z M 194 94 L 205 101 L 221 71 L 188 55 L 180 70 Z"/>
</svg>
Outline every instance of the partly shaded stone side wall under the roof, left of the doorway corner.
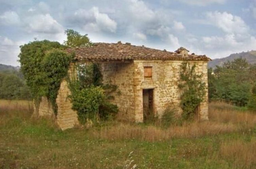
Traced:
<svg viewBox="0 0 256 169">
<path fill-rule="evenodd" d="M 118 119 L 134 121 L 133 63 L 101 63 L 103 83 L 118 87 L 112 102 L 119 108 Z"/>
</svg>

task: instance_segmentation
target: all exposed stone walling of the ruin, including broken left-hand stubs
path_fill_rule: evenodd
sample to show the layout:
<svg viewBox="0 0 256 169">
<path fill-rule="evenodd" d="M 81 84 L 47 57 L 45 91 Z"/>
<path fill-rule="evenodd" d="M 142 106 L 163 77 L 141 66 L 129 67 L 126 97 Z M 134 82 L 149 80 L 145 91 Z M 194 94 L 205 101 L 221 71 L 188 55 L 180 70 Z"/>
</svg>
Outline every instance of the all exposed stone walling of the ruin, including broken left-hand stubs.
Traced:
<svg viewBox="0 0 256 169">
<path fill-rule="evenodd" d="M 153 112 L 162 116 L 167 106 L 175 109 L 180 115 L 181 91 L 178 88 L 180 69 L 184 61 L 135 60 L 134 62 L 100 63 L 103 83 L 118 86 L 114 92 L 112 102 L 119 108 L 118 119 L 143 122 L 143 89 L 153 89 Z M 196 73 L 202 74 L 206 83 L 206 96 L 198 107 L 199 119 L 208 119 L 208 82 L 207 61 L 188 61 L 196 64 Z M 144 67 L 152 67 L 152 79 L 144 79 Z M 68 74 L 71 80 L 76 79 L 76 65 L 71 63 Z M 68 82 L 63 79 L 60 84 L 56 103 L 58 113 L 56 122 L 64 130 L 78 124 L 77 112 L 72 110 L 72 103 L 68 95 Z M 36 109 L 35 109 L 36 111 Z M 53 115 L 53 110 L 47 98 L 43 97 L 39 109 L 39 116 Z"/>
</svg>

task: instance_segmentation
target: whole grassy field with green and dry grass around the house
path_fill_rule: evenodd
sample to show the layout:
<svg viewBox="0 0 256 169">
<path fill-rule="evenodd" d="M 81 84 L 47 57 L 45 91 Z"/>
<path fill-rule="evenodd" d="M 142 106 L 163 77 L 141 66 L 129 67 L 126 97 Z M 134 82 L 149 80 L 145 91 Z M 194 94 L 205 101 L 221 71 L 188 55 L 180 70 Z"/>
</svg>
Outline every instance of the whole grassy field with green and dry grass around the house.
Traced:
<svg viewBox="0 0 256 169">
<path fill-rule="evenodd" d="M 0 100 L 0 168 L 256 168 L 256 114 L 227 104 L 211 103 L 209 121 L 167 129 L 112 121 L 61 131 L 32 111 Z"/>
</svg>

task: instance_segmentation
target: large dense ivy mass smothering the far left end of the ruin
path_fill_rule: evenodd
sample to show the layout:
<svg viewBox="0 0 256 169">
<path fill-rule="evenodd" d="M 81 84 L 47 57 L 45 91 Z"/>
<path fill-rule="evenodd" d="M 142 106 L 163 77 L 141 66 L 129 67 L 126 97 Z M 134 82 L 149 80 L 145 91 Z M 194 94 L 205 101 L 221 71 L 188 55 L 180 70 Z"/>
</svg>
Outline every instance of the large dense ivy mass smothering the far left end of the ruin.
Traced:
<svg viewBox="0 0 256 169">
<path fill-rule="evenodd" d="M 38 107 L 42 96 L 52 103 L 57 114 L 56 97 L 61 79 L 67 75 L 72 56 L 59 42 L 34 41 L 20 46 L 21 71 Z"/>
</svg>

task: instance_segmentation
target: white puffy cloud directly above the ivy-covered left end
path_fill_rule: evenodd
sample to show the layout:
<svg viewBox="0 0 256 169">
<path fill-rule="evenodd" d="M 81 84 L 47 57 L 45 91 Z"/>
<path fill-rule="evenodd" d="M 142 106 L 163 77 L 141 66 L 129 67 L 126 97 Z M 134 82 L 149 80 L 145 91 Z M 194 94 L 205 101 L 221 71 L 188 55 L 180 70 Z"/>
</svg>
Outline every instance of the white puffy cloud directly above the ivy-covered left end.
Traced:
<svg viewBox="0 0 256 169">
<path fill-rule="evenodd" d="M 63 33 L 63 27 L 50 14 L 35 15 L 26 18 L 27 31 L 32 33 L 57 34 Z"/>
</svg>

